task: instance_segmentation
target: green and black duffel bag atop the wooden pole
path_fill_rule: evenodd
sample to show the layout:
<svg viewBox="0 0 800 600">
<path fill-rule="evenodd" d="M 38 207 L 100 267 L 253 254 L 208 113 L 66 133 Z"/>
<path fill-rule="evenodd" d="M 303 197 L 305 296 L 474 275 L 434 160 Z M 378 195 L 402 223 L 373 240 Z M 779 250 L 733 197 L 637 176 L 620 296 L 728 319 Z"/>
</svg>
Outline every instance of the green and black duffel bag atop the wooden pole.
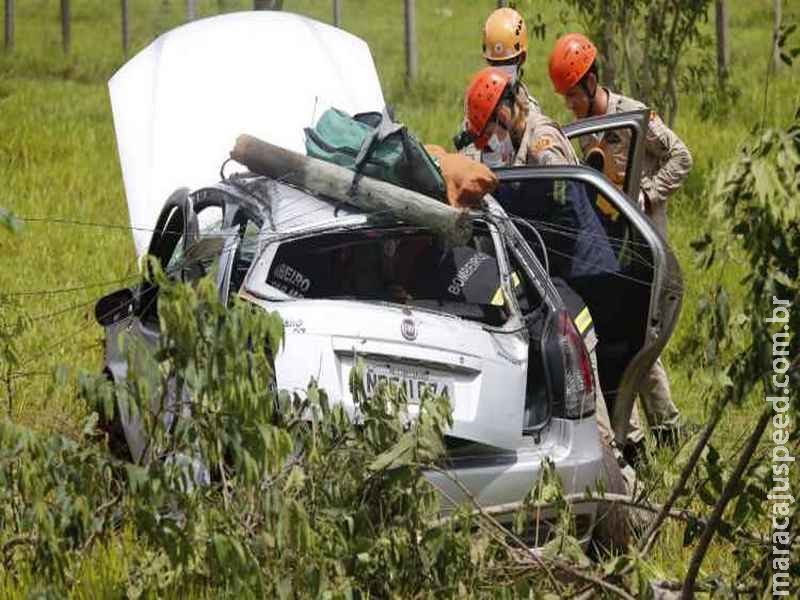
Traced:
<svg viewBox="0 0 800 600">
<path fill-rule="evenodd" d="M 329 108 L 305 129 L 306 153 L 426 196 L 446 201 L 447 188 L 433 158 L 402 123 L 385 113 L 351 117 Z M 358 185 L 358 177 L 353 185 Z"/>
</svg>

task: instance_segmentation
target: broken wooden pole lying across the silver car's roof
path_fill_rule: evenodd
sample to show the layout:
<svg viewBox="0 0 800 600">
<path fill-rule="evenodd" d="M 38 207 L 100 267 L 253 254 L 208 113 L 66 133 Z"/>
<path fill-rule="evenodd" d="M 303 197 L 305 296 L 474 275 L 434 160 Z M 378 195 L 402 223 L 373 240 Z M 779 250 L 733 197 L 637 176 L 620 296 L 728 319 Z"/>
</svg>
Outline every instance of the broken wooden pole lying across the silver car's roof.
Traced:
<svg viewBox="0 0 800 600">
<path fill-rule="evenodd" d="M 231 158 L 253 173 L 280 179 L 345 202 L 368 213 L 391 213 L 412 225 L 430 227 L 444 234 L 453 244 L 464 244 L 472 227 L 464 211 L 397 185 L 355 174 L 333 163 L 292 152 L 251 135 L 240 135 Z"/>
</svg>

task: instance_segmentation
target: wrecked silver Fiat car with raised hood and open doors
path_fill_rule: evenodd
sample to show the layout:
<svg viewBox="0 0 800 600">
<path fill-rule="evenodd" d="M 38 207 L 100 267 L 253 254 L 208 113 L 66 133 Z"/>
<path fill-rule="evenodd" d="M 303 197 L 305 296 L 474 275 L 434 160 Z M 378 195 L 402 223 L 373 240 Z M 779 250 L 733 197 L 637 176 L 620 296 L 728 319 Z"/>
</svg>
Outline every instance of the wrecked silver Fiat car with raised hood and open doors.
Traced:
<svg viewBox="0 0 800 600">
<path fill-rule="evenodd" d="M 237 54 L 247 32 L 251 43 L 267 47 Z M 252 98 L 264 92 L 259 82 L 245 98 L 191 93 L 209 68 L 230 62 L 252 69 L 247 56 L 270 56 L 270 44 L 285 36 L 307 42 L 302 60 L 311 72 L 291 98 L 270 98 L 280 105 L 278 115 L 254 108 Z M 203 57 L 217 61 L 211 67 L 186 52 L 200 39 Z M 332 63 L 340 79 L 326 71 Z M 272 69 L 273 62 L 258 68 Z M 320 69 L 325 73 L 312 89 Z M 156 257 L 183 280 L 204 275 L 214 263 L 223 300 L 238 295 L 277 311 L 285 326 L 285 347 L 274 357 L 279 388 L 302 392 L 314 377 L 332 401 L 352 408 L 347 382 L 361 357 L 367 391 L 381 382 L 403 387 L 412 418 L 426 392 L 447 396 L 451 477 L 429 475 L 445 505 L 465 500 L 453 477 L 482 504 L 521 500 L 545 460 L 568 494 L 608 477 L 615 465 L 609 466 L 598 436 L 598 382 L 551 274 L 559 260 L 576 260 L 563 256 L 574 245 L 559 238 L 582 236 L 613 258 L 613 269 L 585 269 L 572 281 L 565 271 L 561 279 L 594 315 L 600 378 L 621 440 L 636 385 L 666 344 L 680 307 L 677 263 L 626 197 L 638 185 L 640 144 L 632 144 L 624 191 L 588 167 L 498 171 L 498 199 L 487 197 L 482 210 L 469 213 L 472 235 L 454 246 L 432 229 L 366 214 L 279 179 L 234 174 L 208 181 L 216 173 L 211 164 L 223 162 L 241 131 L 301 151 L 297 136 L 321 104 L 351 113 L 382 108 L 369 50 L 345 32 L 287 13 L 206 19 L 159 38 L 110 85 L 137 254 Z M 132 90 L 152 102 L 136 103 Z M 196 124 L 208 115 L 221 116 L 200 137 Z M 619 115 L 572 133 L 624 127 L 641 141 L 645 118 Z M 179 188 L 185 185 L 192 191 Z M 600 234 L 559 229 L 546 214 L 523 218 L 504 209 L 535 204 L 565 186 L 597 214 Z M 125 339 L 158 343 L 158 290 L 147 282 L 120 290 L 101 299 L 96 314 L 106 334 L 105 370 L 122 381 Z M 122 428 L 133 459 L 142 459 L 142 429 L 124 411 Z M 580 539 L 589 538 L 597 510 L 593 503 L 576 507 Z"/>
</svg>

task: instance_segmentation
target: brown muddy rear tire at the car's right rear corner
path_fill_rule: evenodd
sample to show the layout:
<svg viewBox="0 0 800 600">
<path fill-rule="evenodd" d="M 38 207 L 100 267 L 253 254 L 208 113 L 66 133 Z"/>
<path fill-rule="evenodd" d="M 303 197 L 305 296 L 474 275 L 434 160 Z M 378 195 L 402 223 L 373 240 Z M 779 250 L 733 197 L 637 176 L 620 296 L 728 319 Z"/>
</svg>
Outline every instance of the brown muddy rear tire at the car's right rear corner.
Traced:
<svg viewBox="0 0 800 600">
<path fill-rule="evenodd" d="M 627 484 L 614 452 L 605 442 L 602 442 L 602 447 L 606 491 L 609 494 L 626 495 Z M 599 552 L 614 554 L 626 552 L 631 541 L 631 533 L 629 509 L 626 506 L 611 502 L 598 503 L 592 544 Z"/>
</svg>

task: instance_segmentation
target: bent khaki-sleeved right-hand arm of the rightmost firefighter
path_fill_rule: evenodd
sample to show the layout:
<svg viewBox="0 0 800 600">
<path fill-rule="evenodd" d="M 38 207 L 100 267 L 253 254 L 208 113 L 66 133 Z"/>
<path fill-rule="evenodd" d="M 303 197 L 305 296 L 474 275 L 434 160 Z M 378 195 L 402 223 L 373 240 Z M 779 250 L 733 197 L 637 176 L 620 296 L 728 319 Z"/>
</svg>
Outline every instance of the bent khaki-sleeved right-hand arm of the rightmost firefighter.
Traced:
<svg viewBox="0 0 800 600">
<path fill-rule="evenodd" d="M 677 190 L 692 168 L 692 155 L 686 144 L 664 124 L 655 113 L 645 140 L 645 160 L 650 154 L 658 161 L 658 169 L 651 176 L 642 177 L 642 192 L 648 202 L 659 203 Z"/>
</svg>

